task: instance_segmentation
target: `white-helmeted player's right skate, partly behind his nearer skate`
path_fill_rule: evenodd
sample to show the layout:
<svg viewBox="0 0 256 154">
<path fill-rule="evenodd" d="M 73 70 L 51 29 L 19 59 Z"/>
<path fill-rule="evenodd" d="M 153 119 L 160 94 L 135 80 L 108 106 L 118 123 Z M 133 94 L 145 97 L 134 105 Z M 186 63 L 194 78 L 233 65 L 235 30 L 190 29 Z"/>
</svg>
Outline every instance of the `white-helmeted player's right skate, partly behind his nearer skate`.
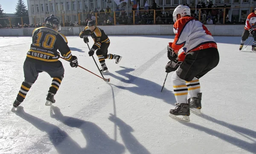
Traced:
<svg viewBox="0 0 256 154">
<path fill-rule="evenodd" d="M 202 93 L 198 93 L 198 97 L 192 97 L 188 99 L 189 107 L 192 112 L 194 113 L 201 113 L 201 100 L 202 100 Z"/>
</svg>

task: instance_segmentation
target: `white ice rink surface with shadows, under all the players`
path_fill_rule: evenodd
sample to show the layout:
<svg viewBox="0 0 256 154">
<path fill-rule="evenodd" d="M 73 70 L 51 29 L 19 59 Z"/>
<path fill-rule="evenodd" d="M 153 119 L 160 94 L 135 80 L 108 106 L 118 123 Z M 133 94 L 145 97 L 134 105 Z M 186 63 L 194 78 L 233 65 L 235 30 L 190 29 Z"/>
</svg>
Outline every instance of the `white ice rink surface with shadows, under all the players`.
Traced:
<svg viewBox="0 0 256 154">
<path fill-rule="evenodd" d="M 200 79 L 203 114 L 191 114 L 190 122 L 168 116 L 175 108 L 172 73 L 160 92 L 174 36 L 109 38 L 109 53 L 123 57 L 119 64 L 106 60 L 110 83 L 61 60 L 65 74 L 56 103 L 44 105 L 52 79 L 41 73 L 11 111 L 32 38 L 0 37 L 1 154 L 256 153 L 256 54 L 238 51 L 241 37 L 214 37 L 220 63 Z M 99 74 L 83 40 L 67 39 L 79 65 Z"/>
</svg>

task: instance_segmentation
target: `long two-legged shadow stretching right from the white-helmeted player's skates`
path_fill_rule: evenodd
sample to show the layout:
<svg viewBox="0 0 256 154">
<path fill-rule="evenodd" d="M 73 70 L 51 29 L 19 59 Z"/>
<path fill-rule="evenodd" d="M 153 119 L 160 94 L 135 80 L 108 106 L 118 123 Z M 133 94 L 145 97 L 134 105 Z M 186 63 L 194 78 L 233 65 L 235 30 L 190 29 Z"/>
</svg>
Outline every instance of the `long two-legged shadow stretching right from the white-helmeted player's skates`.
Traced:
<svg viewBox="0 0 256 154">
<path fill-rule="evenodd" d="M 221 132 L 218 132 L 218 131 L 215 131 L 213 129 L 210 129 L 210 128 L 207 128 L 207 127 L 204 127 L 204 126 L 201 126 L 201 125 L 197 125 L 195 123 L 189 123 L 189 122 L 182 122 L 182 121 L 179 121 L 180 123 L 182 123 L 183 125 L 186 125 L 186 126 L 189 126 L 189 127 L 192 127 L 192 128 L 195 128 L 197 130 L 200 130 L 200 131 L 204 131 L 205 133 L 209 134 L 209 135 L 213 135 L 213 136 L 216 136 L 218 138 L 220 138 L 221 140 L 224 140 L 228 143 L 231 143 L 239 148 L 242 148 L 248 152 L 251 152 L 251 153 L 254 153 L 256 154 L 256 142 L 255 140 L 251 139 L 251 138 L 254 138 L 256 139 L 256 131 L 253 131 L 253 130 L 250 130 L 248 128 L 243 128 L 243 127 L 240 127 L 240 126 L 237 126 L 237 125 L 232 125 L 230 123 L 226 123 L 224 121 L 220 121 L 220 120 L 217 120 L 213 117 L 210 117 L 206 114 L 196 114 L 206 120 L 209 120 L 209 121 L 212 121 L 213 123 L 216 123 L 216 124 L 219 124 L 219 125 L 223 125 L 233 131 L 235 131 L 236 133 L 242 135 L 243 137 L 247 138 L 248 140 L 251 140 L 251 143 L 247 142 L 247 141 L 244 141 L 244 140 L 241 140 L 239 138 L 236 138 L 236 137 L 232 137 L 230 135 L 227 135 L 227 134 L 224 134 L 224 133 L 221 133 Z"/>
</svg>

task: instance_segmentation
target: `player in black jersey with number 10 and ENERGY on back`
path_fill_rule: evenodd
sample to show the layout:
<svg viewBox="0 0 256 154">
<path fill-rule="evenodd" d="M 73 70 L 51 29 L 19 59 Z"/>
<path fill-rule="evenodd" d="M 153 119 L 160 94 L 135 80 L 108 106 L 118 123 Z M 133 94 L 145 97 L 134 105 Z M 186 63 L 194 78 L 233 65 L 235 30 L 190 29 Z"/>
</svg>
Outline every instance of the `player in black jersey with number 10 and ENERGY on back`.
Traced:
<svg viewBox="0 0 256 154">
<path fill-rule="evenodd" d="M 37 28 L 32 33 L 32 44 L 27 52 L 26 60 L 23 64 L 25 80 L 23 81 L 17 98 L 13 103 L 14 107 L 20 105 L 26 97 L 29 89 L 38 78 L 41 72 L 47 72 L 52 77 L 52 84 L 47 95 L 45 105 L 50 106 L 55 103 L 54 95 L 61 85 L 64 77 L 64 68 L 57 50 L 62 57 L 70 62 L 71 67 L 77 67 L 77 57 L 71 54 L 67 45 L 67 38 L 58 33 L 61 30 L 60 22 L 56 17 L 47 17 L 44 21 L 45 27 Z"/>
</svg>

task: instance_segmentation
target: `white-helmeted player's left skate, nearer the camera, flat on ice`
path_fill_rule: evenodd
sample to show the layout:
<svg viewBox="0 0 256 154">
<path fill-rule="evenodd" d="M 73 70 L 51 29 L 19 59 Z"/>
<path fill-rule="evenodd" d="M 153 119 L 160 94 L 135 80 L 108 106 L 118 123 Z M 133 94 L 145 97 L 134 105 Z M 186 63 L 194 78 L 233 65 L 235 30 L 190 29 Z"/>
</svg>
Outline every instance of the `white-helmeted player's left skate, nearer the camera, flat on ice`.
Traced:
<svg viewBox="0 0 256 154">
<path fill-rule="evenodd" d="M 189 122 L 190 109 L 189 104 L 187 103 L 179 103 L 179 105 L 175 109 L 170 110 L 169 117 Z M 180 117 L 178 117 L 180 116 Z M 182 116 L 182 117 L 181 117 Z"/>
</svg>

